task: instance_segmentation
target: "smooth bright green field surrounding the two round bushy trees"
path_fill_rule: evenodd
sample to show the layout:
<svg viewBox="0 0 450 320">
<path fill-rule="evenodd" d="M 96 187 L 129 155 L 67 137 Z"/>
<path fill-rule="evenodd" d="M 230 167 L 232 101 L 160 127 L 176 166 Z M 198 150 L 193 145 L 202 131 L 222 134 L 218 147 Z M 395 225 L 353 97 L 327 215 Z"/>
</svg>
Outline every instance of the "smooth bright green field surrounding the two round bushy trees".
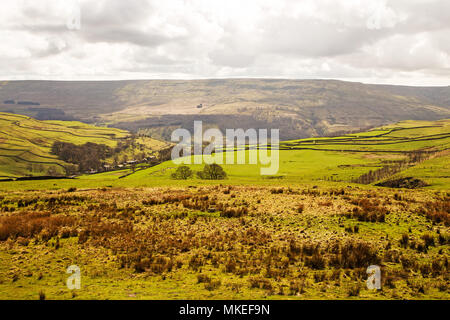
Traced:
<svg viewBox="0 0 450 320">
<path fill-rule="evenodd" d="M 238 153 L 246 153 L 248 159 L 248 151 L 238 151 Z M 194 162 L 194 159 L 192 159 L 192 162 Z M 134 174 L 122 179 L 119 179 L 119 177 L 128 173 L 129 170 L 84 175 L 76 179 L 2 182 L 0 189 L 58 189 L 73 186 L 84 188 L 106 186 L 144 187 L 224 183 L 236 185 L 287 185 L 314 183 L 331 179 L 331 177 L 335 181 L 349 182 L 351 179 L 358 177 L 370 169 L 375 169 L 379 165 L 380 158 L 365 158 L 361 154 L 311 150 L 281 150 L 280 168 L 276 175 L 261 175 L 260 164 L 223 164 L 222 166 L 228 175 L 226 180 L 205 181 L 196 177 L 188 180 L 173 180 L 170 174 L 175 171 L 177 165 L 172 161 L 166 161 L 152 168 L 136 171 Z M 203 164 L 192 164 L 189 166 L 194 171 L 200 171 L 203 168 Z"/>
</svg>

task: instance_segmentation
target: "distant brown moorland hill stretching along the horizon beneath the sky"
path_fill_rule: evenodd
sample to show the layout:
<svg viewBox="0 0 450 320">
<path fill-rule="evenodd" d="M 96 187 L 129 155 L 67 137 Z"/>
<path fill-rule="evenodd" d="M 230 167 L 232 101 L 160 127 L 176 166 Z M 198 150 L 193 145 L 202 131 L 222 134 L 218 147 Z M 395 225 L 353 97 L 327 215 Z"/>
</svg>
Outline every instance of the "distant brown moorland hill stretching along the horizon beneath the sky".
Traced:
<svg viewBox="0 0 450 320">
<path fill-rule="evenodd" d="M 283 139 L 294 139 L 450 117 L 449 86 L 336 80 L 3 81 L 0 101 L 0 111 L 105 123 L 166 139 L 194 119 L 222 129 L 280 128 Z"/>
</svg>

